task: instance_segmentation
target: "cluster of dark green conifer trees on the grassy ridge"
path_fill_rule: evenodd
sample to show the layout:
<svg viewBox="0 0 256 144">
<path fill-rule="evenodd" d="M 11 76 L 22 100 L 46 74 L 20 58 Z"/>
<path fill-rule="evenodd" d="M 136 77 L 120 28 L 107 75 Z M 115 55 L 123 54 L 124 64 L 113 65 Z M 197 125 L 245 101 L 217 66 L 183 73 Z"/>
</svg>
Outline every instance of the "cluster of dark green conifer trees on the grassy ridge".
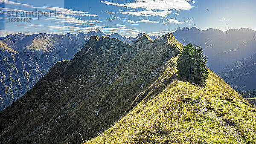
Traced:
<svg viewBox="0 0 256 144">
<path fill-rule="evenodd" d="M 207 59 L 200 46 L 193 46 L 192 43 L 185 44 L 183 51 L 178 55 L 178 75 L 198 86 L 205 87 L 209 75 L 206 63 Z"/>
</svg>

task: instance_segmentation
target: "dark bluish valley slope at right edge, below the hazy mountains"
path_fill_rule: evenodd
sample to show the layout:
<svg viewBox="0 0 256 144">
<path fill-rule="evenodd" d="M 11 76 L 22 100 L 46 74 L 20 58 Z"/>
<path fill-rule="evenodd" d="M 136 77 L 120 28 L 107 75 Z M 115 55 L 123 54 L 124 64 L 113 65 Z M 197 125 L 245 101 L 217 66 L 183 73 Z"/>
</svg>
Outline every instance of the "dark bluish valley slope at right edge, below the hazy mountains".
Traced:
<svg viewBox="0 0 256 144">
<path fill-rule="evenodd" d="M 256 54 L 225 67 L 218 74 L 236 90 L 256 89 Z"/>
</svg>

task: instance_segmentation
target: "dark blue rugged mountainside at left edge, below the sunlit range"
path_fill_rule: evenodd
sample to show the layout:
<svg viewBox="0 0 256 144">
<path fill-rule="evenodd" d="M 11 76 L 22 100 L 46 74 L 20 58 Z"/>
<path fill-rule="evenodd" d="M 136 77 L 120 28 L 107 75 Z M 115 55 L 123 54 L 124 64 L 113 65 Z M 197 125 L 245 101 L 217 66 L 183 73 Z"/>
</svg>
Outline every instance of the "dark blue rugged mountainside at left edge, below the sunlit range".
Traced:
<svg viewBox="0 0 256 144">
<path fill-rule="evenodd" d="M 43 55 L 32 52 L 0 55 L 0 110 L 31 89 L 57 61 L 73 58 L 81 47 L 72 43 L 66 48 Z"/>
</svg>

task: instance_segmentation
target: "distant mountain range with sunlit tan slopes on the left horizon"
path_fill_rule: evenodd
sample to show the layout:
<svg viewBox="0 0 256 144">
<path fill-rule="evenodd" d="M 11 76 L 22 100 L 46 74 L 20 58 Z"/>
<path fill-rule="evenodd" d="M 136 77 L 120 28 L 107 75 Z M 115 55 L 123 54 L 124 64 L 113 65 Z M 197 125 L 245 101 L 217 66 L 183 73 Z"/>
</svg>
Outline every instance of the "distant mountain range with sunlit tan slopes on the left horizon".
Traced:
<svg viewBox="0 0 256 144">
<path fill-rule="evenodd" d="M 117 38 L 125 43 L 133 43 L 138 37 L 144 35 L 140 33 L 136 38 L 123 37 L 117 33 L 111 35 L 105 35 L 100 30 L 98 32 L 90 31 L 87 34 L 79 32 L 78 35 L 67 33 L 66 35 L 57 34 L 33 34 L 33 35 L 8 35 L 6 37 L 0 37 L 0 55 L 17 54 L 20 52 L 35 52 L 38 54 L 44 54 L 46 52 L 56 51 L 63 47 L 67 47 L 70 43 L 84 44 L 92 35 L 101 37 L 103 35 Z M 155 36 L 149 36 L 152 40 L 156 39 Z"/>
</svg>

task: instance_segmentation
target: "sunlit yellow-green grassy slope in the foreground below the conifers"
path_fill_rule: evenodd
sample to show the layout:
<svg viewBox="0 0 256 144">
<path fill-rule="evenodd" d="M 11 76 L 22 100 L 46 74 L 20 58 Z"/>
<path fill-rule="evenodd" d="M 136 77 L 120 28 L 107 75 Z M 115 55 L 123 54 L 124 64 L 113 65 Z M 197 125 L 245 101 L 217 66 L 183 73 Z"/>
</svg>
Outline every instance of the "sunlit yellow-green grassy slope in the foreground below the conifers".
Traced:
<svg viewBox="0 0 256 144">
<path fill-rule="evenodd" d="M 175 78 L 174 69 L 168 64 L 162 77 L 140 94 L 139 104 L 86 143 L 237 143 L 223 125 L 201 112 L 198 101 L 204 97 L 208 109 L 234 126 L 248 144 L 256 144 L 255 107 L 210 70 L 202 89 Z"/>
</svg>

